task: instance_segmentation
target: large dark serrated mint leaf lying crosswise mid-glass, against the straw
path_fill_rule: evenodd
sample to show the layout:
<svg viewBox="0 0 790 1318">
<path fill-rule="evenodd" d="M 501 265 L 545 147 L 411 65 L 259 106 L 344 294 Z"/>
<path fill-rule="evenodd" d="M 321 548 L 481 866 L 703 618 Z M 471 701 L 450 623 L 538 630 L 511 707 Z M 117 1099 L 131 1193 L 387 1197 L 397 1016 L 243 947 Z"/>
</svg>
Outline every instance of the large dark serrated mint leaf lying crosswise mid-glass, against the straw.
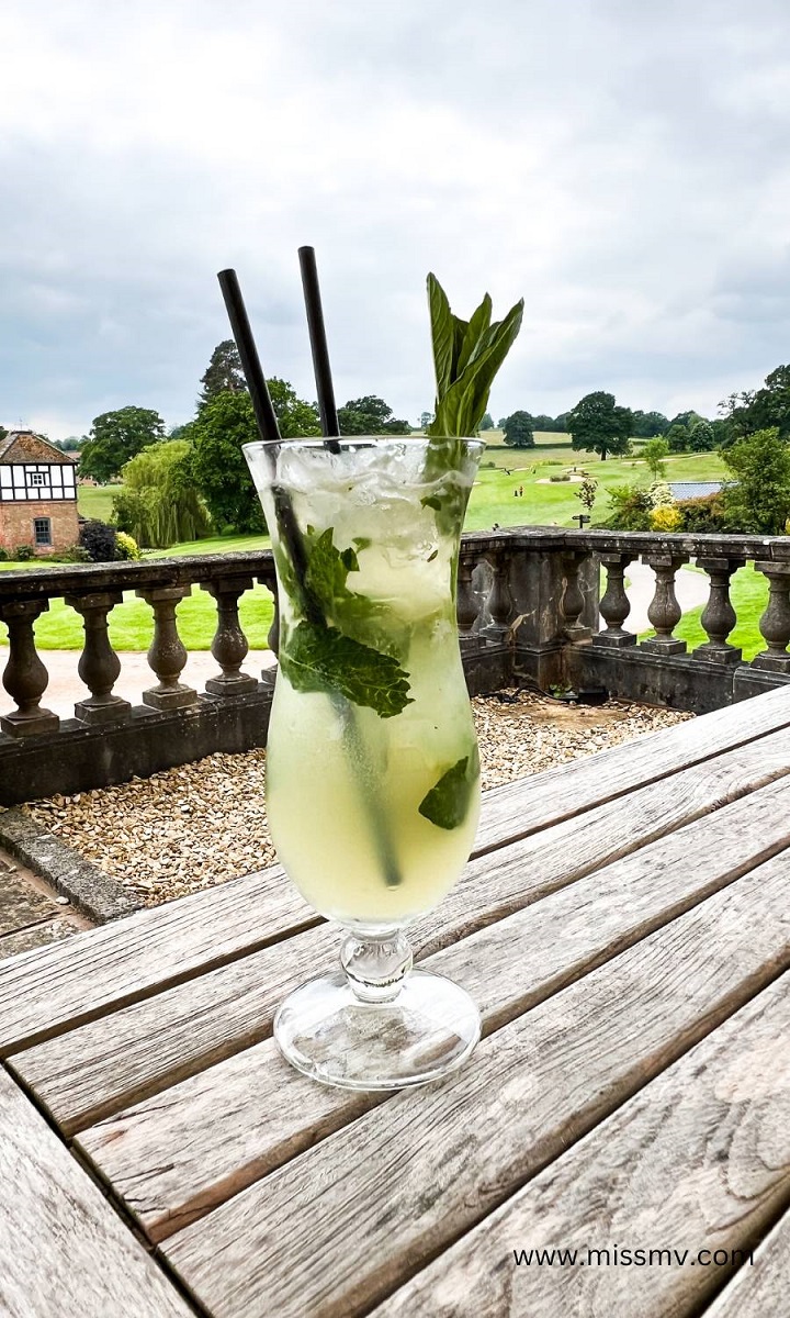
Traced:
<svg viewBox="0 0 790 1318">
<path fill-rule="evenodd" d="M 300 622 L 280 646 L 280 668 L 295 691 L 324 691 L 392 718 L 412 704 L 408 673 L 337 627 Z"/>
</svg>

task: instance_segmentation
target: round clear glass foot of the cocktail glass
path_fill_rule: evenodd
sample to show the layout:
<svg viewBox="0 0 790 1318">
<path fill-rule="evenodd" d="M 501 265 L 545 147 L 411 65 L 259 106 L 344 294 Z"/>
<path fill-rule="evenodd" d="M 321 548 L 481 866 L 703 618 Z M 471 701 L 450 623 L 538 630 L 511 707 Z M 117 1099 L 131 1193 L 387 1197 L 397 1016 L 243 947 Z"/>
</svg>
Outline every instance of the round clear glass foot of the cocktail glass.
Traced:
<svg viewBox="0 0 790 1318">
<path fill-rule="evenodd" d="M 461 1066 L 481 1014 L 463 988 L 424 970 L 409 971 L 388 1002 L 362 1002 L 346 975 L 323 975 L 286 998 L 274 1036 L 296 1070 L 324 1085 L 403 1089 Z"/>
</svg>

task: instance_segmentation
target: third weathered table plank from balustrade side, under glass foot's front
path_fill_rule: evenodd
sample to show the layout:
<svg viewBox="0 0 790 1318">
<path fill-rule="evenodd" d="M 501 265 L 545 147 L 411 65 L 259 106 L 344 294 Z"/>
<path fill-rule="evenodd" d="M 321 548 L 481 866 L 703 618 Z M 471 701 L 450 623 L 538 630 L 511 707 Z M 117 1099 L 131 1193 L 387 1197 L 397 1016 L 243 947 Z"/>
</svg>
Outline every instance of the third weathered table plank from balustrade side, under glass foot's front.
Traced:
<svg viewBox="0 0 790 1318">
<path fill-rule="evenodd" d="M 743 874 L 756 863 L 756 837 L 766 855 L 782 846 L 789 805 L 782 779 L 423 965 L 462 983 L 490 1032 Z M 313 940 L 307 933 L 282 949 L 299 949 L 287 971 L 296 982 L 315 970 Z M 271 1019 L 280 983 L 261 982 L 259 992 Z M 161 1240 L 373 1104 L 370 1095 L 316 1086 L 267 1041 L 84 1131 L 79 1144 Z"/>
</svg>

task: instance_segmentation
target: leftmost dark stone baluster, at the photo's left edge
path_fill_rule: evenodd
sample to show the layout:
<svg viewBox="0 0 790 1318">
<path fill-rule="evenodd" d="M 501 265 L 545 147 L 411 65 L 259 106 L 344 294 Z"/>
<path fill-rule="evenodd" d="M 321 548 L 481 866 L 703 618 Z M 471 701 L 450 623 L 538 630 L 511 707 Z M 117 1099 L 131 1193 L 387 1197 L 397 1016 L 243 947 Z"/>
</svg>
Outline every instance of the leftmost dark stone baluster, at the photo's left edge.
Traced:
<svg viewBox="0 0 790 1318">
<path fill-rule="evenodd" d="M 3 685 L 17 706 L 11 714 L 0 717 L 0 728 L 11 737 L 55 733 L 61 725 L 51 709 L 41 708 L 49 672 L 36 650 L 34 623 L 47 609 L 47 600 L 9 600 L 0 605 L 0 618 L 8 627 L 9 648 Z"/>
</svg>

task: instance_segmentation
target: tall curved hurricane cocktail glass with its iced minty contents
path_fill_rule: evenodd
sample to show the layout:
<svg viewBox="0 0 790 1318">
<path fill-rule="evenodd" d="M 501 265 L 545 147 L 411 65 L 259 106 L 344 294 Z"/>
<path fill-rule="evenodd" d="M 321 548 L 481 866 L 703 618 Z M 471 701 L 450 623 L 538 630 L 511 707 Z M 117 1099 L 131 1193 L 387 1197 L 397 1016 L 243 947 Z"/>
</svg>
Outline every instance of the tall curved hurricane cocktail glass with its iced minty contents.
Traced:
<svg viewBox="0 0 790 1318">
<path fill-rule="evenodd" d="M 453 1070 L 481 1031 L 461 987 L 412 969 L 404 931 L 460 878 L 479 815 L 456 581 L 485 444 L 332 444 L 245 445 L 279 593 L 269 824 L 302 895 L 346 931 L 342 970 L 291 992 L 274 1032 L 315 1079 L 379 1090 Z"/>
</svg>

